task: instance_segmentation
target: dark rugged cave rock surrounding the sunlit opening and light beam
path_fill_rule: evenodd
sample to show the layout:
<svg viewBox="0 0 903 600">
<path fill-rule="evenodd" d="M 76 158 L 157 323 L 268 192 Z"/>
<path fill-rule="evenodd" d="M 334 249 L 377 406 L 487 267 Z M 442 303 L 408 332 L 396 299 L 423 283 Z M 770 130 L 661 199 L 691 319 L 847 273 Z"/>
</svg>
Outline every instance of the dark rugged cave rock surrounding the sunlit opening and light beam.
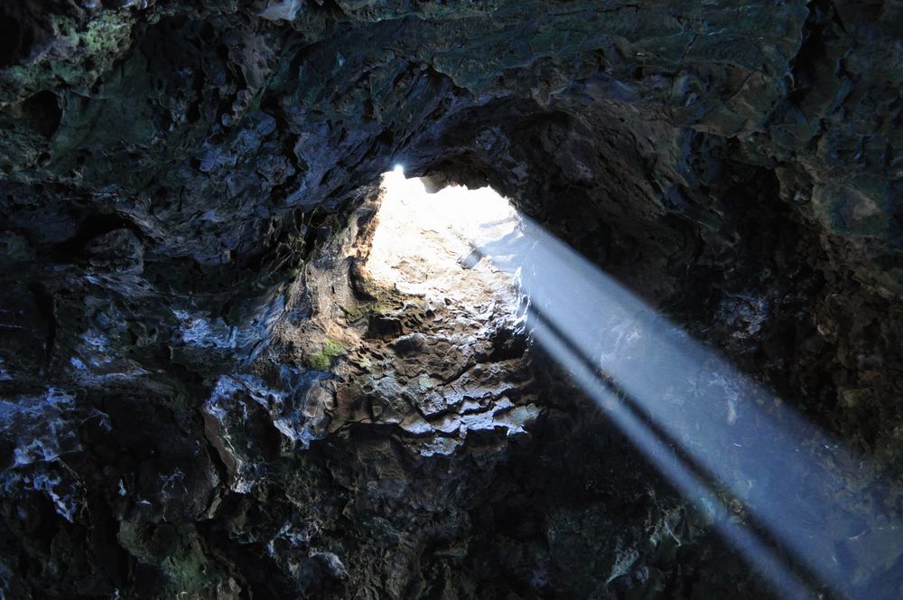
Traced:
<svg viewBox="0 0 903 600">
<path fill-rule="evenodd" d="M 348 557 L 391 547 L 413 509 L 343 508 L 407 451 L 395 430 L 304 449 L 261 412 L 248 468 L 283 472 L 247 493 L 217 398 L 303 408 L 341 380 L 350 359 L 286 328 L 353 286 L 348 248 L 401 162 L 491 183 L 898 481 L 899 31 L 896 3 L 821 0 L 0 6 L 5 595 L 764 594 L 539 357 L 535 441 L 481 469 L 470 446 L 397 467 L 472 480 L 404 569 Z M 458 481 L 431 476 L 433 500 Z M 573 522 L 589 533 L 554 537 Z M 678 522 L 694 550 L 675 558 L 659 534 Z M 619 523 L 636 539 L 615 543 Z M 610 586 L 639 546 L 621 569 L 639 583 Z"/>
</svg>

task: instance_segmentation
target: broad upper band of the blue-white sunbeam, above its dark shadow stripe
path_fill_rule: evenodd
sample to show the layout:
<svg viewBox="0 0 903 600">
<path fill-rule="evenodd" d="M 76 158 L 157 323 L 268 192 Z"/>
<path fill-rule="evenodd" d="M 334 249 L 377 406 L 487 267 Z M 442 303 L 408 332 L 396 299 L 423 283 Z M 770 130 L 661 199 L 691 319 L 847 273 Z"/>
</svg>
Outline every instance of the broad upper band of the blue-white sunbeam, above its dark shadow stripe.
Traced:
<svg viewBox="0 0 903 600">
<path fill-rule="evenodd" d="M 535 325 L 535 338 L 578 374 L 582 387 L 600 399 L 590 376 L 579 374 L 588 361 L 597 379 L 611 380 L 632 398 L 707 479 L 730 490 L 749 517 L 833 591 L 863 600 L 900 597 L 898 579 L 886 589 L 867 585 L 892 567 L 889 557 L 903 556 L 898 520 L 869 504 L 898 502 L 898 491 L 871 483 L 870 498 L 862 497 L 858 492 L 867 482 L 861 461 L 573 249 L 522 219 L 516 234 L 479 249 L 489 260 L 502 257 L 498 266 L 519 274 L 531 314 L 543 315 L 534 319 L 542 323 Z M 564 352 L 563 344 L 571 350 Z M 583 367 L 575 366 L 575 356 Z M 654 459 L 649 448 L 655 445 L 624 410 L 616 410 L 622 405 L 600 404 Z M 684 465 L 654 462 L 691 499 L 710 498 Z M 740 543 L 738 535 L 731 539 L 759 567 L 777 572 L 762 544 L 745 534 Z M 785 592 L 797 587 L 787 583 L 791 578 L 786 570 L 773 577 Z"/>
</svg>

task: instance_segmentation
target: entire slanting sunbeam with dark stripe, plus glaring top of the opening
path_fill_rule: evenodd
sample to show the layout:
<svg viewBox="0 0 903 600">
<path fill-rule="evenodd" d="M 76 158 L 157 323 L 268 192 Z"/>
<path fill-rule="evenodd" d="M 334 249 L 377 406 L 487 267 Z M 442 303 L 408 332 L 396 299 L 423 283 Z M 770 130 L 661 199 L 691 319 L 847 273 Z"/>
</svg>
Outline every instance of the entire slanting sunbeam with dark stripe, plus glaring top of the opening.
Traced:
<svg viewBox="0 0 903 600">
<path fill-rule="evenodd" d="M 782 595 L 903 597 L 898 488 L 489 188 L 428 195 L 397 171 L 386 186 L 486 277 L 517 279 L 535 339 L 690 501 L 739 502 L 740 523 L 715 524 Z"/>
</svg>

